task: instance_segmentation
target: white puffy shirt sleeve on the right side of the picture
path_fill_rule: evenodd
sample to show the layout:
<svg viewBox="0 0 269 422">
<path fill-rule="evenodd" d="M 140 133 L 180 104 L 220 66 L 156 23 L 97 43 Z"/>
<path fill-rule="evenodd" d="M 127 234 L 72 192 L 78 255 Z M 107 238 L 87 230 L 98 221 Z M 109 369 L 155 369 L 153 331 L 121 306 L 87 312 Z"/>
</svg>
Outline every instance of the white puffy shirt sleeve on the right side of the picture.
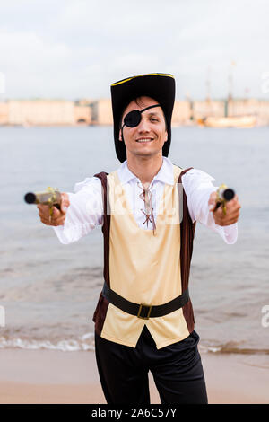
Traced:
<svg viewBox="0 0 269 422">
<path fill-rule="evenodd" d="M 208 199 L 218 187 L 213 185 L 212 176 L 201 170 L 191 169 L 182 176 L 182 185 L 187 195 L 187 207 L 192 221 L 198 221 L 219 233 L 224 242 L 233 244 L 238 239 L 238 224 L 221 226 L 215 224 L 209 211 Z"/>
</svg>

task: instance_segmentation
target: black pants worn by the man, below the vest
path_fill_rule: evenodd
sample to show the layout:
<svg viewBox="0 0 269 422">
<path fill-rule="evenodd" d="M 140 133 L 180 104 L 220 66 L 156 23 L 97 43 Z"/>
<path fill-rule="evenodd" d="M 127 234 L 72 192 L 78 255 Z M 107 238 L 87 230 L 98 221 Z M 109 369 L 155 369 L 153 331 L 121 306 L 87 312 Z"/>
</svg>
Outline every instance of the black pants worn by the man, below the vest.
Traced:
<svg viewBox="0 0 269 422">
<path fill-rule="evenodd" d="M 150 404 L 151 371 L 162 404 L 206 404 L 198 334 L 157 349 L 144 326 L 136 347 L 122 346 L 95 334 L 100 382 L 108 404 Z"/>
</svg>

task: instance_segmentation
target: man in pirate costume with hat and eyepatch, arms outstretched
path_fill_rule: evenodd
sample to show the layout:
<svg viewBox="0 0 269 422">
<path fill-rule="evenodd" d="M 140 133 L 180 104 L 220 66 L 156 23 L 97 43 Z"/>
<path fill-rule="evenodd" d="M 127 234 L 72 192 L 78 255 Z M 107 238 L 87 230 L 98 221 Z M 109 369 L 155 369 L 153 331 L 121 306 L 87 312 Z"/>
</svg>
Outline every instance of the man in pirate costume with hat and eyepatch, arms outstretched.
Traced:
<svg viewBox="0 0 269 422">
<path fill-rule="evenodd" d="M 212 177 L 169 161 L 172 75 L 127 78 L 111 85 L 111 96 L 121 166 L 62 194 L 52 218 L 38 206 L 40 219 L 65 244 L 102 225 L 104 287 L 93 321 L 108 404 L 150 403 L 149 371 L 162 403 L 207 403 L 188 295 L 195 223 L 236 242 L 239 200 L 224 215 Z"/>
</svg>

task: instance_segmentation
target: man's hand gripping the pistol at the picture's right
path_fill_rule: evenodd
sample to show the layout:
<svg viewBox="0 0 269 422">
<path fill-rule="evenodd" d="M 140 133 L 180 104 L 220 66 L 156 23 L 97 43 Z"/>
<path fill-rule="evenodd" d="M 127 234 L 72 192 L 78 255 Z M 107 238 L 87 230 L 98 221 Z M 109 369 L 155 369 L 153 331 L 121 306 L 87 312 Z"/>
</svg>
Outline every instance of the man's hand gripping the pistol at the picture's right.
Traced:
<svg viewBox="0 0 269 422">
<path fill-rule="evenodd" d="M 218 225 L 230 225 L 237 223 L 239 220 L 240 215 L 240 204 L 239 204 L 239 197 L 235 195 L 233 199 L 226 202 L 226 215 L 223 213 L 222 205 L 218 208 L 217 206 L 217 193 L 213 192 L 208 201 L 209 209 L 213 212 L 213 218 L 215 224 Z"/>
</svg>

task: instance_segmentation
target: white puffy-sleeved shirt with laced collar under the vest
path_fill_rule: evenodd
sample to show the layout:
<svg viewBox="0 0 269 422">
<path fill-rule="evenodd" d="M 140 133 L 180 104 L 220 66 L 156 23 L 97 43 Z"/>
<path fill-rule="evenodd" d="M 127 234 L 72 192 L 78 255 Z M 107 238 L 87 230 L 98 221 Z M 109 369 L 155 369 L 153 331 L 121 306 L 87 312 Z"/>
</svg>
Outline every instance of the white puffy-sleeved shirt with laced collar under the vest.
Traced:
<svg viewBox="0 0 269 422">
<path fill-rule="evenodd" d="M 152 191 L 152 208 L 156 221 L 158 207 L 165 184 L 174 184 L 173 164 L 169 158 L 162 157 L 160 171 L 154 176 L 150 185 Z M 144 230 L 152 230 L 152 223 L 148 227 L 143 224 L 145 216 L 143 199 L 140 198 L 142 184 L 128 169 L 127 162 L 117 169 L 118 178 L 126 191 L 126 198 L 133 210 L 137 224 Z M 224 242 L 233 244 L 238 238 L 238 224 L 220 226 L 215 224 L 213 213 L 209 211 L 208 199 L 217 189 L 213 186 L 213 177 L 204 171 L 192 169 L 182 176 L 182 185 L 187 195 L 187 207 L 194 221 L 206 225 L 213 232 L 219 233 Z M 141 188 L 140 188 L 140 187 Z M 61 243 L 76 242 L 90 233 L 96 225 L 103 223 L 102 188 L 99 178 L 86 178 L 74 186 L 74 193 L 69 193 L 70 207 L 68 207 L 65 224 L 53 227 Z"/>
</svg>

